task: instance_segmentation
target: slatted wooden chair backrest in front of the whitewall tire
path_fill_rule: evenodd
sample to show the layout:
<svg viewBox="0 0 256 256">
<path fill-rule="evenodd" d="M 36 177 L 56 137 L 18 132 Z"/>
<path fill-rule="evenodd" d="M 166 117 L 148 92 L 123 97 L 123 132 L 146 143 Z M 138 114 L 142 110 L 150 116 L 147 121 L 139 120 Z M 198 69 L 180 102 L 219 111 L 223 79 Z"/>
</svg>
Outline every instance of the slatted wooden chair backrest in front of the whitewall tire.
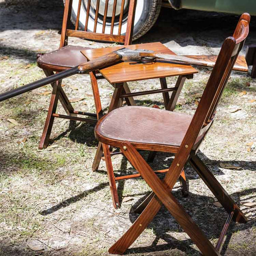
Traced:
<svg viewBox="0 0 256 256">
<path fill-rule="evenodd" d="M 117 11 L 117 3 L 121 1 L 120 9 Z M 97 41 L 107 41 L 130 45 L 132 42 L 133 25 L 137 0 L 65 0 L 64 17 L 61 32 L 60 47 L 68 44 L 68 37 L 80 37 Z M 102 6 L 104 4 L 104 6 Z M 73 5 L 73 8 L 72 8 Z M 125 7 L 128 9 L 126 33 L 121 35 Z M 72 9 L 76 13 L 74 29 L 69 29 Z M 101 12 L 99 12 L 101 10 Z M 84 13 L 82 13 L 84 12 Z M 82 15 L 83 14 L 83 15 Z M 91 18 L 91 16 L 93 17 Z M 86 17 L 84 26 L 80 27 L 81 17 Z M 116 18 L 116 16 L 118 18 Z M 99 19 L 101 17 L 101 20 Z M 100 22 L 102 21 L 102 22 Z M 115 23 L 119 22 L 118 29 Z M 93 22 L 93 31 L 88 31 L 88 24 Z M 106 31 L 106 24 L 109 24 Z M 114 29 L 115 27 L 115 29 Z"/>
</svg>

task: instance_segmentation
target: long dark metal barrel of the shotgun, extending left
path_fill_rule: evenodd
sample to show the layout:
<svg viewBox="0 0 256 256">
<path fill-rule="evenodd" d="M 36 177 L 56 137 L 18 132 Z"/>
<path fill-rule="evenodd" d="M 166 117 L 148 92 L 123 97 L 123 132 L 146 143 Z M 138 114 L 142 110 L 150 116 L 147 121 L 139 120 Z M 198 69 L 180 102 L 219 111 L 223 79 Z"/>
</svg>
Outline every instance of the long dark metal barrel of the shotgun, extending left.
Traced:
<svg viewBox="0 0 256 256">
<path fill-rule="evenodd" d="M 27 92 L 27 91 L 32 91 L 32 90 L 37 89 L 39 87 L 42 87 L 46 84 L 56 82 L 58 80 L 69 77 L 69 76 L 71 76 L 73 74 L 76 74 L 76 73 L 79 73 L 78 66 L 73 67 L 73 68 L 68 69 L 68 70 L 65 70 L 65 71 L 62 71 L 60 73 L 56 73 L 54 75 L 50 75 L 46 78 L 42 78 L 42 79 L 40 79 L 36 82 L 28 83 L 24 86 L 21 86 L 21 87 L 17 88 L 17 89 L 4 92 L 4 93 L 0 94 L 0 101 L 7 100 L 9 98 L 15 97 L 15 96 L 17 96 L 19 94 L 22 94 L 24 92 Z"/>
</svg>

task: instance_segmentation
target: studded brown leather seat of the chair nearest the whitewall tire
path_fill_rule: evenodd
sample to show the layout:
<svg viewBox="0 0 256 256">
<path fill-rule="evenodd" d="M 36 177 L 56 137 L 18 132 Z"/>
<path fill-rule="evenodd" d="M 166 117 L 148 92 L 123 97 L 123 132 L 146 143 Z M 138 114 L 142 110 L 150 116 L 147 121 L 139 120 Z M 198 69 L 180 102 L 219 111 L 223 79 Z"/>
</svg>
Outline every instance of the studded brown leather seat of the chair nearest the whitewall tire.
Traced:
<svg viewBox="0 0 256 256">
<path fill-rule="evenodd" d="M 41 55 L 37 59 L 40 68 L 53 71 L 66 70 L 87 62 L 81 50 L 91 49 L 82 46 L 64 46 L 58 50 Z"/>
</svg>

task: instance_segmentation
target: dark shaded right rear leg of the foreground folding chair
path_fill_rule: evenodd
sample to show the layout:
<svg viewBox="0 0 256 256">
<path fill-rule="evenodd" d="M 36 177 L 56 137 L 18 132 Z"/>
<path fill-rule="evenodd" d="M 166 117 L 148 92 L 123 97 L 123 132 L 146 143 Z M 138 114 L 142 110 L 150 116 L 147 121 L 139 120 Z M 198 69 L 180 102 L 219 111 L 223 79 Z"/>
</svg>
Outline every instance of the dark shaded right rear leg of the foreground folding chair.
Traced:
<svg viewBox="0 0 256 256">
<path fill-rule="evenodd" d="M 220 185 L 214 175 L 210 172 L 208 167 L 202 162 L 202 160 L 197 155 L 192 155 L 190 158 L 190 164 L 208 186 L 210 191 L 215 195 L 218 201 L 221 203 L 223 208 L 230 214 L 234 211 L 233 220 L 246 223 L 247 218 L 240 210 L 238 205 L 233 201 L 225 189 Z"/>
</svg>

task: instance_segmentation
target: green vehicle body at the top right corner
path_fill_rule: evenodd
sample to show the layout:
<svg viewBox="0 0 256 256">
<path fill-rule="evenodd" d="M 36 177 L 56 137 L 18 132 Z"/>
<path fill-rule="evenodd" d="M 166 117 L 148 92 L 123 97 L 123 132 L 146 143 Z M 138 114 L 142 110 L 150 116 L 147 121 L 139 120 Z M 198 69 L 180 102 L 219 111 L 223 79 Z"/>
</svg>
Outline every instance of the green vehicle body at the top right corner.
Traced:
<svg viewBox="0 0 256 256">
<path fill-rule="evenodd" d="M 194 9 L 256 15 L 256 0 L 169 0 L 174 9 Z"/>
</svg>

